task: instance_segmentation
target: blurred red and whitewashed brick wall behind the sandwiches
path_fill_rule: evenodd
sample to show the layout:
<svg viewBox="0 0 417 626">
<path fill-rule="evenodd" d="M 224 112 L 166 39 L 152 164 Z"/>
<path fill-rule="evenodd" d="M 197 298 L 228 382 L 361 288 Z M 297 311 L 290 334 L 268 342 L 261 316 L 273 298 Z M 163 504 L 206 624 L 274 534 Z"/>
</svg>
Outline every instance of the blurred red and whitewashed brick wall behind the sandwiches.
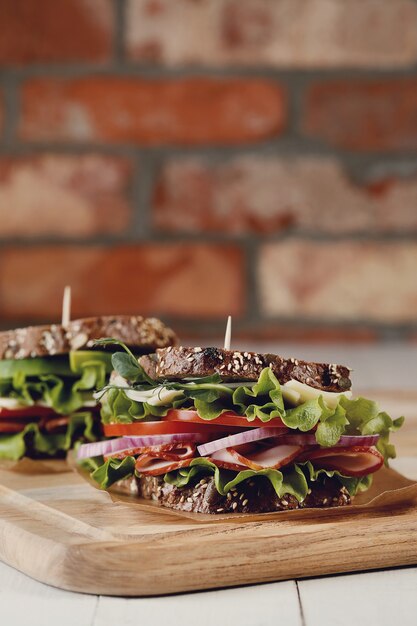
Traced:
<svg viewBox="0 0 417 626">
<path fill-rule="evenodd" d="M 417 336 L 416 0 L 2 0 L 0 324 Z"/>
</svg>

